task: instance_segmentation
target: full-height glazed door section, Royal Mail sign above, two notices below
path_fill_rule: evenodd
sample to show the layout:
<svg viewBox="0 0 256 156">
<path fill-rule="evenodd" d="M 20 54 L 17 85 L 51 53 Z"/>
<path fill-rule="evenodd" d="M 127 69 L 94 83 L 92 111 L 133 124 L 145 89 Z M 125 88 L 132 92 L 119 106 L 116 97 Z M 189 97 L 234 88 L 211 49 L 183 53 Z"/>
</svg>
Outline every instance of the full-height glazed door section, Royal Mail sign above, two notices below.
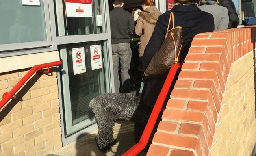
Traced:
<svg viewBox="0 0 256 156">
<path fill-rule="evenodd" d="M 108 1 L 107 1 L 108 2 Z M 105 0 L 55 0 L 56 38 L 61 68 L 64 138 L 95 125 L 92 98 L 111 91 L 113 74 L 108 3 Z M 61 120 L 62 121 L 62 120 Z M 78 132 L 79 131 L 79 132 Z"/>
</svg>

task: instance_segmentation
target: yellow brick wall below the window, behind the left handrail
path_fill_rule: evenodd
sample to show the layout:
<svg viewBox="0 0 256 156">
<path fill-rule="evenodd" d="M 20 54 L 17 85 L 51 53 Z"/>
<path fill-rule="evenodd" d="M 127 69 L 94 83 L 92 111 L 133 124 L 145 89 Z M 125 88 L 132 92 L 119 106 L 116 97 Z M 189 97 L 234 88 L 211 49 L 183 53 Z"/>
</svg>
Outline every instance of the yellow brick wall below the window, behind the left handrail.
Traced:
<svg viewBox="0 0 256 156">
<path fill-rule="evenodd" d="M 0 100 L 29 69 L 0 73 Z M 45 156 L 62 147 L 56 67 L 34 75 L 0 110 L 0 156 Z"/>
</svg>

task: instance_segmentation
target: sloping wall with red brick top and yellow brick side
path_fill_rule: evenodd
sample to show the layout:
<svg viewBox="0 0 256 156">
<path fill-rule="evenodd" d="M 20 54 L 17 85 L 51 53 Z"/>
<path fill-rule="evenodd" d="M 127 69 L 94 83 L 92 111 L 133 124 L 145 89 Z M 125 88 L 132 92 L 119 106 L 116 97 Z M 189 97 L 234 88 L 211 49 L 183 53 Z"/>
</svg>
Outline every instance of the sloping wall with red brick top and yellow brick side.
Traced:
<svg viewBox="0 0 256 156">
<path fill-rule="evenodd" d="M 148 156 L 255 151 L 256 27 L 196 35 Z"/>
</svg>

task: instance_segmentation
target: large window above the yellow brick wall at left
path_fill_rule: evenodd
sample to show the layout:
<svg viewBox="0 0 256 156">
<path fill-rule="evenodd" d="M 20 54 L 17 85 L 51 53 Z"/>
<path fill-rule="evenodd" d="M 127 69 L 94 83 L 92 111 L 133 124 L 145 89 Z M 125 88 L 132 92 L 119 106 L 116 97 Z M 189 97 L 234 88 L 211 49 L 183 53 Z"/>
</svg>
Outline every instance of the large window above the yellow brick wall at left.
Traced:
<svg viewBox="0 0 256 156">
<path fill-rule="evenodd" d="M 2 0 L 0 51 L 50 46 L 48 10 L 46 0 Z"/>
</svg>

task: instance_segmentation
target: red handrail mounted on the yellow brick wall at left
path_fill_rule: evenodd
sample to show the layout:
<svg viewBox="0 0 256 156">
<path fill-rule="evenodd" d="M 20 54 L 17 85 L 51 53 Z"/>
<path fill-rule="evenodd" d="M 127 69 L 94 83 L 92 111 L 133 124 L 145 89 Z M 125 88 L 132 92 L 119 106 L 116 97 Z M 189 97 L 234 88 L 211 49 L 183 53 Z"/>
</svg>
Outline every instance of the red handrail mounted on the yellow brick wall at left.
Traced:
<svg viewBox="0 0 256 156">
<path fill-rule="evenodd" d="M 41 65 L 34 65 L 28 73 L 9 91 L 8 93 L 3 94 L 3 99 L 0 101 L 0 109 L 11 99 L 16 98 L 15 93 L 24 85 L 24 83 L 35 73 L 46 73 L 49 72 L 49 67 L 61 65 L 61 61 L 55 61 L 50 63 L 44 63 Z M 43 68 L 47 68 L 47 71 L 42 71 Z"/>
</svg>

